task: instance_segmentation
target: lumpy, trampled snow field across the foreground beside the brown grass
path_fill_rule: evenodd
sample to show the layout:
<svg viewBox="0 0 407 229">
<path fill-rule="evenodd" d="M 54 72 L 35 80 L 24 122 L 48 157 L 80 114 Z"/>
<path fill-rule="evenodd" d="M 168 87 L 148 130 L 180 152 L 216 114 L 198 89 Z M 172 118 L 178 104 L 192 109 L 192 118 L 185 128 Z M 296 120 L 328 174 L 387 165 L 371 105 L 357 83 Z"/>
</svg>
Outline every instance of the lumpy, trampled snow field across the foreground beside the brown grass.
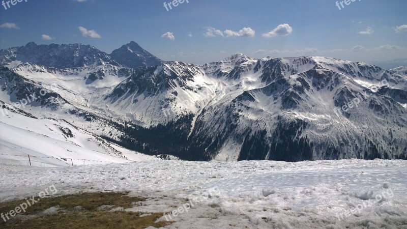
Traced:
<svg viewBox="0 0 407 229">
<path fill-rule="evenodd" d="M 377 159 L 0 165 L 0 199 L 54 185 L 57 195 L 109 190 L 149 197 L 125 211 L 172 212 L 194 204 L 170 215 L 175 223 L 166 228 L 404 228 L 406 168 L 406 161 Z"/>
</svg>

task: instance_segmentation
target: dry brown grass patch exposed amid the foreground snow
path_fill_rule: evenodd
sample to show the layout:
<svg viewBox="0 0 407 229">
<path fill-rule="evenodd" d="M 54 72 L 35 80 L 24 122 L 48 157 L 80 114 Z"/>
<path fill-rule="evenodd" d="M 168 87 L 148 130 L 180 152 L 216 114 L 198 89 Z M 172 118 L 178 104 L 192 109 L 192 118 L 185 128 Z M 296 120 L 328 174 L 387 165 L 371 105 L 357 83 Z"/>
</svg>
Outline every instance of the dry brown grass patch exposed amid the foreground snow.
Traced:
<svg viewBox="0 0 407 229">
<path fill-rule="evenodd" d="M 170 222 L 155 221 L 164 213 L 153 213 L 140 217 L 137 212 L 108 212 L 98 210 L 100 206 L 110 205 L 113 208 L 132 208 L 135 202 L 143 202 L 144 198 L 129 197 L 128 193 L 82 193 L 57 197 L 42 198 L 38 203 L 26 209 L 16 217 L 4 222 L 0 218 L 0 228 L 146 228 L 162 227 Z M 0 203 L 0 213 L 8 213 L 24 200 Z M 77 208 L 81 206 L 81 208 Z M 43 215 L 43 211 L 51 207 L 61 210 L 54 215 Z"/>
</svg>

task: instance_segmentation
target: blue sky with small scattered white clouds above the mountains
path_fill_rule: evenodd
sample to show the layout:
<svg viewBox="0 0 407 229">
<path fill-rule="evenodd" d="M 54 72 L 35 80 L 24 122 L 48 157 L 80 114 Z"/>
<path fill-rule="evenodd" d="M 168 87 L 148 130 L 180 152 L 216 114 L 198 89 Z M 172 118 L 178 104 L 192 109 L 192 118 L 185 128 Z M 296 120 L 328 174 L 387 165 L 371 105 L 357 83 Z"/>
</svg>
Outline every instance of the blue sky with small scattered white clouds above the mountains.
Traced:
<svg viewBox="0 0 407 229">
<path fill-rule="evenodd" d="M 110 53 L 135 41 L 164 61 L 194 64 L 241 52 L 407 65 L 406 0 L 3 2 L 0 49 L 34 41 L 90 44 Z"/>
</svg>

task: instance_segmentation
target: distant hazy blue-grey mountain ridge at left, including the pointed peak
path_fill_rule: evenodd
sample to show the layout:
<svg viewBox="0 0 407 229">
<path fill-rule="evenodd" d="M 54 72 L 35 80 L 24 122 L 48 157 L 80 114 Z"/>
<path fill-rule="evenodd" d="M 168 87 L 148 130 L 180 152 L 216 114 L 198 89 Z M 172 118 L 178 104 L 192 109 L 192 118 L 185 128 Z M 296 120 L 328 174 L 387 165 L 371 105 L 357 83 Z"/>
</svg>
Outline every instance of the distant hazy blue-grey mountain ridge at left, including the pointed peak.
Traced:
<svg viewBox="0 0 407 229">
<path fill-rule="evenodd" d="M 27 62 L 60 69 L 105 64 L 138 68 L 163 63 L 134 41 L 114 50 L 110 55 L 83 44 L 37 45 L 30 42 L 25 46 L 0 50 L 0 65 L 13 68 Z"/>
</svg>

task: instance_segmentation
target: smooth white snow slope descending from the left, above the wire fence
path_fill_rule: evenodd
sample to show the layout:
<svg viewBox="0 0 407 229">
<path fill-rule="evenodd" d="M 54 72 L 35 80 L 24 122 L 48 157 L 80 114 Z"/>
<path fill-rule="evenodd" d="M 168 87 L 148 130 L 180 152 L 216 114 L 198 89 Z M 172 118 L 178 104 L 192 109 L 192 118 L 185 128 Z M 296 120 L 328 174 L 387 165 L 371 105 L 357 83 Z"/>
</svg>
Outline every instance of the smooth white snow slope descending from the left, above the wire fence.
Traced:
<svg viewBox="0 0 407 229">
<path fill-rule="evenodd" d="M 30 154 L 34 161 L 56 165 L 158 160 L 114 145 L 64 120 L 35 119 L 0 109 L 4 114 L 0 116 L 0 159 L 28 160 Z"/>
</svg>

